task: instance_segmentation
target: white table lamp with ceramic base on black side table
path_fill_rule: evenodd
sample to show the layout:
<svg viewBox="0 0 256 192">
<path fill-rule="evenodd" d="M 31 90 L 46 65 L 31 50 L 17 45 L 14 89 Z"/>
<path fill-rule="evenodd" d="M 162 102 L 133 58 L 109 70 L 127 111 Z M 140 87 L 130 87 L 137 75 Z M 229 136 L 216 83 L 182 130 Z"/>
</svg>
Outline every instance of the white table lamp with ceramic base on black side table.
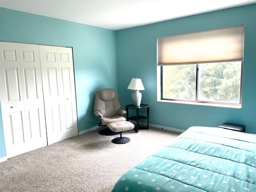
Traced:
<svg viewBox="0 0 256 192">
<path fill-rule="evenodd" d="M 132 78 L 127 89 L 133 90 L 132 93 L 132 102 L 134 106 L 140 106 L 142 94 L 139 92 L 140 90 L 145 90 L 141 79 Z"/>
</svg>

